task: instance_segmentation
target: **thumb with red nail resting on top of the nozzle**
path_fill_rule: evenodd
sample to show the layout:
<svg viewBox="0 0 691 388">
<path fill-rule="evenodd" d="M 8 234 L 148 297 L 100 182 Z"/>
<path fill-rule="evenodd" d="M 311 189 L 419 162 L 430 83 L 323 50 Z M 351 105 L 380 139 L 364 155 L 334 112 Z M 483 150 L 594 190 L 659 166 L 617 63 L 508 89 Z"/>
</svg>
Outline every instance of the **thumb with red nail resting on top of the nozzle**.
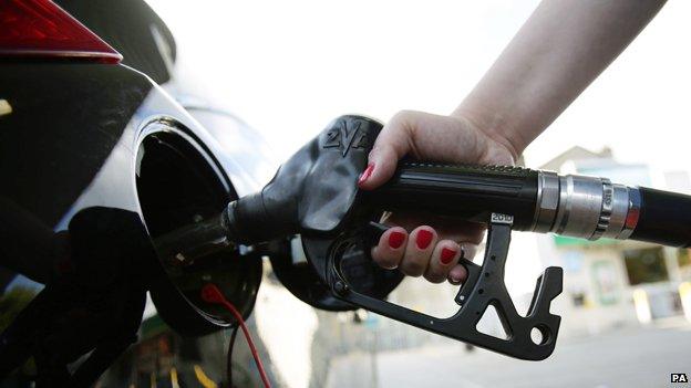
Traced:
<svg viewBox="0 0 691 388">
<path fill-rule="evenodd" d="M 363 190 L 373 190 L 393 176 L 399 159 L 409 154 L 411 149 L 411 114 L 405 111 L 401 112 L 384 125 L 370 151 L 368 167 L 360 176 L 358 187 Z"/>
</svg>

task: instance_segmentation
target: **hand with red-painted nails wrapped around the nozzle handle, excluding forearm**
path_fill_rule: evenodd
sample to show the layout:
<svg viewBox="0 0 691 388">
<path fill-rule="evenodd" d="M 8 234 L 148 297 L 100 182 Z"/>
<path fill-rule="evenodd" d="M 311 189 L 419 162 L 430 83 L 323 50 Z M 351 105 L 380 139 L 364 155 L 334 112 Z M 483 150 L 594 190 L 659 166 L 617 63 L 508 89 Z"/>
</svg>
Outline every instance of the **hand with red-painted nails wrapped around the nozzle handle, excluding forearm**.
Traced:
<svg viewBox="0 0 691 388">
<path fill-rule="evenodd" d="M 489 136 L 463 116 L 403 111 L 380 133 L 358 186 L 380 187 L 406 155 L 427 161 L 513 165 L 512 149 L 510 143 Z M 462 256 L 472 260 L 484 234 L 478 223 L 440 216 L 394 213 L 384 222 L 393 227 L 372 248 L 374 261 L 433 283 L 463 282 L 467 273 L 457 262 Z"/>
</svg>

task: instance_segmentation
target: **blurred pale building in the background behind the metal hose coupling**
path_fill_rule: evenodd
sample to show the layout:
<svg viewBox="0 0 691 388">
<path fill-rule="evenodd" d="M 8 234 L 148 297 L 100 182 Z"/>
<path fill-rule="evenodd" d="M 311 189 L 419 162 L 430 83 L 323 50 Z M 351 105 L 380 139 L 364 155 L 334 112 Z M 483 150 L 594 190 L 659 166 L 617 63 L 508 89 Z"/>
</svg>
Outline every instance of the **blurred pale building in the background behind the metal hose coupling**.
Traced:
<svg viewBox="0 0 691 388">
<path fill-rule="evenodd" d="M 592 153 L 574 147 L 542 168 L 602 176 L 630 186 L 687 193 L 690 189 L 688 172 L 620 164 L 609 148 Z M 565 271 L 559 301 L 565 311 L 563 335 L 598 333 L 683 314 L 679 286 L 691 279 L 688 250 L 628 240 L 537 238 L 543 264 L 559 265 Z"/>
</svg>

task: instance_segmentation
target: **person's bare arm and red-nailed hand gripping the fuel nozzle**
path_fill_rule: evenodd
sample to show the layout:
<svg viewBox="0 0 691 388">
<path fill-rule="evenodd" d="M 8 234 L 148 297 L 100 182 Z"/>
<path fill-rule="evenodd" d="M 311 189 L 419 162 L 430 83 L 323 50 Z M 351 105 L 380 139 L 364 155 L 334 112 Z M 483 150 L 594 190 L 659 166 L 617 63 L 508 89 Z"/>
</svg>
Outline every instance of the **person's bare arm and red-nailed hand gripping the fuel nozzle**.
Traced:
<svg viewBox="0 0 691 388">
<path fill-rule="evenodd" d="M 360 178 L 371 190 L 398 160 L 513 164 L 623 51 L 662 8 L 662 0 L 545 0 L 450 116 L 403 111 L 386 124 Z M 477 226 L 393 214 L 372 250 L 384 268 L 432 282 L 463 281 L 456 265 L 482 240 Z M 426 223 L 426 224 L 425 224 Z"/>
</svg>

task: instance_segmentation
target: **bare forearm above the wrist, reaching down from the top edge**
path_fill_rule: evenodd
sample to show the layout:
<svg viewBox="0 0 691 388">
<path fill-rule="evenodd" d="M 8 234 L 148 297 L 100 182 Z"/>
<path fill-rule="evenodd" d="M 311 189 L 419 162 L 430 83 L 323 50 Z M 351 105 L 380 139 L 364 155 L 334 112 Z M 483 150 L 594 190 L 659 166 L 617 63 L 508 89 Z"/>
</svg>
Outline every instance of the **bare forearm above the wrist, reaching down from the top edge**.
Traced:
<svg viewBox="0 0 691 388">
<path fill-rule="evenodd" d="M 659 0 L 543 1 L 453 113 L 516 158 L 626 49 Z"/>
</svg>

